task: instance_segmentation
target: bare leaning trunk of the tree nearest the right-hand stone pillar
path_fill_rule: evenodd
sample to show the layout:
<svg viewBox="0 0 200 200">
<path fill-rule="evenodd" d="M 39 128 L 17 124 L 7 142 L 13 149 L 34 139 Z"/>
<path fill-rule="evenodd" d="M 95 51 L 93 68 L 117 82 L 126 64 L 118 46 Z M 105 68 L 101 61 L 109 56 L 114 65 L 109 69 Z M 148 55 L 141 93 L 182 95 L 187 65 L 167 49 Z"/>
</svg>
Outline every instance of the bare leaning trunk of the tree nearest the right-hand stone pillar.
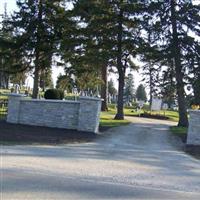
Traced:
<svg viewBox="0 0 200 200">
<path fill-rule="evenodd" d="M 188 117 L 186 110 L 185 102 L 185 91 L 183 83 L 183 72 L 181 66 L 181 54 L 180 46 L 178 41 L 177 33 L 177 21 L 175 13 L 175 0 L 171 0 L 171 22 L 172 22 L 172 37 L 173 37 L 173 56 L 176 72 L 176 82 L 177 82 L 177 95 L 178 95 L 178 107 L 179 107 L 179 122 L 178 126 L 187 127 L 188 126 Z"/>
</svg>

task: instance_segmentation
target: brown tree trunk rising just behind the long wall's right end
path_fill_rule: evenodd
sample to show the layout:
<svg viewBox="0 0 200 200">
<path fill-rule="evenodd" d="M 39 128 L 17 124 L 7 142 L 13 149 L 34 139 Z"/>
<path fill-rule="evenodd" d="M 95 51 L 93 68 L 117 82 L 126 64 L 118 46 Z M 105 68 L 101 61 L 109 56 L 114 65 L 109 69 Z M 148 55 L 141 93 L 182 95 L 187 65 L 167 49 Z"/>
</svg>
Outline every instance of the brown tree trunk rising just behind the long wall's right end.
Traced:
<svg viewBox="0 0 200 200">
<path fill-rule="evenodd" d="M 102 101 L 102 106 L 101 106 L 101 111 L 108 111 L 108 81 L 107 81 L 107 66 L 103 65 L 101 68 L 101 78 L 103 80 L 103 84 L 101 85 L 101 98 L 103 99 Z"/>
</svg>

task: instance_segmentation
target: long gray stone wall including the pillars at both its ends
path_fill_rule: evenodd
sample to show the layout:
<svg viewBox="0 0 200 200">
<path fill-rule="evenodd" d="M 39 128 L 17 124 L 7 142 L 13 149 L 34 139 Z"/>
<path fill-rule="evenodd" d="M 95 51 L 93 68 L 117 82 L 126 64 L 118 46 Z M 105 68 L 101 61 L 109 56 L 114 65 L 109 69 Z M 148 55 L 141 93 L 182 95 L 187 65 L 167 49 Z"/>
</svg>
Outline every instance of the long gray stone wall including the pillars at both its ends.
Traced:
<svg viewBox="0 0 200 200">
<path fill-rule="evenodd" d="M 80 97 L 79 101 L 28 99 L 12 94 L 7 122 L 98 132 L 101 99 Z"/>
</svg>

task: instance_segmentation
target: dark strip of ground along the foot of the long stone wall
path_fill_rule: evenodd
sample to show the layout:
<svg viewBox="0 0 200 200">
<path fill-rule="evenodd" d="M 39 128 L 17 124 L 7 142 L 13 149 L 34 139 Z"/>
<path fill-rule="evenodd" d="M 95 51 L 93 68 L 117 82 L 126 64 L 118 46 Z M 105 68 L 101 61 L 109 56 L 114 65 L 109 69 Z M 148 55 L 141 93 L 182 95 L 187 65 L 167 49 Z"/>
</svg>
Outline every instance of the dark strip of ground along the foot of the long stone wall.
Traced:
<svg viewBox="0 0 200 200">
<path fill-rule="evenodd" d="M 92 142 L 99 136 L 91 132 L 10 124 L 0 120 L 0 144 L 64 144 Z"/>
</svg>

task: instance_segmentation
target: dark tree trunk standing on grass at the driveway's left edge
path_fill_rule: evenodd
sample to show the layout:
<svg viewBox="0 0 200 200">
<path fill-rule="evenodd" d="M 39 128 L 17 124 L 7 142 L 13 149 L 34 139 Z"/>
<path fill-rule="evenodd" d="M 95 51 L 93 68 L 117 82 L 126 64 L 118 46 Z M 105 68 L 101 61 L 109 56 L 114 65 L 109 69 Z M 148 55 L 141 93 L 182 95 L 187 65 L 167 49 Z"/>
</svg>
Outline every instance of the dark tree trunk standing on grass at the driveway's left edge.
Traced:
<svg viewBox="0 0 200 200">
<path fill-rule="evenodd" d="M 125 72 L 122 65 L 122 19 L 123 19 L 123 11 L 120 10 L 119 18 L 118 18 L 118 36 L 117 36 L 117 70 L 119 74 L 119 86 L 118 86 L 118 101 L 117 101 L 117 114 L 115 115 L 115 119 L 124 119 L 124 76 Z"/>
</svg>

